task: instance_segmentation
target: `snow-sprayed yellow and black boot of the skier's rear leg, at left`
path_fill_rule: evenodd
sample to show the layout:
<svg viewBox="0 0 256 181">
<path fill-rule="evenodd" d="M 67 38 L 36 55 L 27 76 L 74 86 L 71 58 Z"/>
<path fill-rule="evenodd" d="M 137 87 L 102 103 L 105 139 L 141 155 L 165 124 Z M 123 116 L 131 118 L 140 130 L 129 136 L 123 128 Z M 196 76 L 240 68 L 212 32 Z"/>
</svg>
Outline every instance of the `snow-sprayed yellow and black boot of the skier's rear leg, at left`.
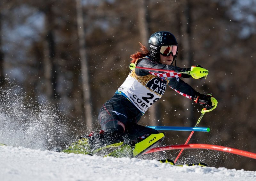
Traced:
<svg viewBox="0 0 256 181">
<path fill-rule="evenodd" d="M 122 134 L 101 130 L 99 134 L 92 132 L 89 136 L 82 136 L 80 140 L 72 143 L 68 148 L 62 150 L 62 152 L 103 156 L 106 154 L 105 149 L 121 146 L 123 141 Z M 110 149 L 108 153 L 111 151 L 113 150 Z"/>
</svg>

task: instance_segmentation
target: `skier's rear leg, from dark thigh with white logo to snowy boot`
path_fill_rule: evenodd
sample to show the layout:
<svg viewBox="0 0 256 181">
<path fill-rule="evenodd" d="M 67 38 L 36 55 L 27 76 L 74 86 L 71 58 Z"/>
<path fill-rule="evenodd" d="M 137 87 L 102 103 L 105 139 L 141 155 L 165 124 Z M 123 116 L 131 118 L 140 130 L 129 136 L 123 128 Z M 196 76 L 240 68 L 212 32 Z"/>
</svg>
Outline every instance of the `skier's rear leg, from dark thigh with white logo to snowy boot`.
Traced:
<svg viewBox="0 0 256 181">
<path fill-rule="evenodd" d="M 127 116 L 125 107 L 121 105 L 120 98 L 113 97 L 107 101 L 99 112 L 100 133 L 83 136 L 63 152 L 93 155 L 100 151 L 105 155 L 113 150 L 107 152 L 108 150 L 103 149 L 122 145 Z"/>
</svg>

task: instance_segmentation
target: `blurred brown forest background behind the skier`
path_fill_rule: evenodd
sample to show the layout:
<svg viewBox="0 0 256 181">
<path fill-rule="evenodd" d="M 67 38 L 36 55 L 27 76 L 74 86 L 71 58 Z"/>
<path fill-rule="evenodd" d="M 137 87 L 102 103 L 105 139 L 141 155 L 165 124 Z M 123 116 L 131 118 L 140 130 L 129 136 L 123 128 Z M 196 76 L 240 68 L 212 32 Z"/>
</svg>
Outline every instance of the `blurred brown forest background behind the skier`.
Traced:
<svg viewBox="0 0 256 181">
<path fill-rule="evenodd" d="M 190 143 L 256 152 L 255 7 L 255 0 L 2 0 L 1 94 L 15 84 L 27 110 L 49 103 L 74 141 L 99 129 L 98 111 L 125 80 L 139 42 L 147 46 L 152 33 L 169 31 L 179 43 L 177 66 L 209 70 L 207 79 L 183 80 L 218 100 L 199 125 L 211 131 L 196 132 Z M 168 89 L 139 123 L 193 127 L 201 109 Z M 164 144 L 183 144 L 188 134 L 166 132 Z M 212 166 L 256 168 L 255 160 L 214 151 L 182 156 L 198 152 L 204 159 L 212 155 Z M 178 152 L 171 154 L 175 159 Z"/>
</svg>

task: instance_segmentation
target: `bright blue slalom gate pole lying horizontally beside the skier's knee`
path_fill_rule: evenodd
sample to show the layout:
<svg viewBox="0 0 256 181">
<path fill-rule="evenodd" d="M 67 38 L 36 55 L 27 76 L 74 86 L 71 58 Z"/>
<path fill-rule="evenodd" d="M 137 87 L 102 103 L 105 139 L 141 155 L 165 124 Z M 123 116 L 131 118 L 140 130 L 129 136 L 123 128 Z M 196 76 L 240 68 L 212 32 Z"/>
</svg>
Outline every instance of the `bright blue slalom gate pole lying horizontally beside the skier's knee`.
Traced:
<svg viewBox="0 0 256 181">
<path fill-rule="evenodd" d="M 209 127 L 177 127 L 177 126 L 147 126 L 158 131 L 202 131 L 209 132 Z"/>
</svg>

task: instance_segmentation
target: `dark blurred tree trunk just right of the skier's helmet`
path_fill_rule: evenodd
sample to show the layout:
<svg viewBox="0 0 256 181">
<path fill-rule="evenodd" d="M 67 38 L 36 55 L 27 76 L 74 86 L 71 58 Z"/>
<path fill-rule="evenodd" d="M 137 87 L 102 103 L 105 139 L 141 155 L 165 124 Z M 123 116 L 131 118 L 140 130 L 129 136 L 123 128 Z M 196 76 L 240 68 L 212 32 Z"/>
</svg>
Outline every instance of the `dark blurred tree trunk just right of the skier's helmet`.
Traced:
<svg viewBox="0 0 256 181">
<path fill-rule="evenodd" d="M 184 60 L 186 65 L 192 66 L 193 63 L 193 46 L 191 45 L 192 41 L 192 32 L 191 32 L 191 25 L 192 25 L 192 16 L 191 16 L 191 3 L 190 0 L 183 0 L 180 5 L 182 8 L 184 7 L 184 11 L 180 14 L 181 17 L 181 34 L 184 35 L 182 38 L 182 45 L 184 49 Z M 179 65 L 177 65 L 179 66 Z M 187 83 L 190 82 L 189 79 L 186 80 Z M 184 118 L 188 118 L 187 126 L 193 125 L 194 116 L 193 116 L 193 106 L 190 99 L 184 100 L 185 107 L 184 110 Z"/>
</svg>

